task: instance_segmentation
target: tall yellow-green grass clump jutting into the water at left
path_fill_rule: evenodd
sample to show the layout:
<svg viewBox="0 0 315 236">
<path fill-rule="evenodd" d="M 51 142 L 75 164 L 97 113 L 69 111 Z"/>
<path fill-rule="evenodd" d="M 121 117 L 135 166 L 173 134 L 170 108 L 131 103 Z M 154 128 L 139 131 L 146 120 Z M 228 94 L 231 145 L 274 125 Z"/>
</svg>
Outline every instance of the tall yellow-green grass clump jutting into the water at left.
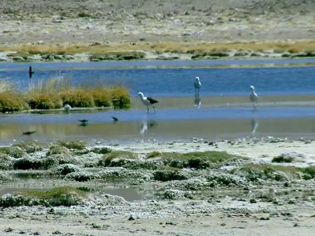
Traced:
<svg viewBox="0 0 315 236">
<path fill-rule="evenodd" d="M 71 79 L 57 76 L 32 83 L 26 91 L 19 91 L 13 84 L 0 80 L 0 112 L 21 112 L 30 109 L 60 109 L 65 104 L 73 108 L 130 106 L 128 89 L 123 86 L 90 88 L 73 86 Z"/>
</svg>

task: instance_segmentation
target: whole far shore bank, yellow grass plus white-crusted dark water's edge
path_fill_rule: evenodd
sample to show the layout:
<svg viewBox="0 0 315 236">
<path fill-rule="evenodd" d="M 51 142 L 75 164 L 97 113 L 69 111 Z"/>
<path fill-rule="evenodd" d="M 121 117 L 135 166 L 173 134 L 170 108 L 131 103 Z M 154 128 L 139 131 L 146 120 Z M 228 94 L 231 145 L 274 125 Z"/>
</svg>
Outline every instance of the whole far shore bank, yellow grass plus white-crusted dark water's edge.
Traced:
<svg viewBox="0 0 315 236">
<path fill-rule="evenodd" d="M 224 58 L 306 58 L 315 57 L 315 41 L 297 42 L 126 42 L 92 44 L 19 44 L 0 47 L 13 61 L 71 60 L 86 54 L 90 61 L 139 59 L 224 59 Z M 173 56 L 164 55 L 170 53 Z M 175 56 L 179 55 L 179 56 Z M 82 59 L 82 57 L 79 57 Z"/>
</svg>

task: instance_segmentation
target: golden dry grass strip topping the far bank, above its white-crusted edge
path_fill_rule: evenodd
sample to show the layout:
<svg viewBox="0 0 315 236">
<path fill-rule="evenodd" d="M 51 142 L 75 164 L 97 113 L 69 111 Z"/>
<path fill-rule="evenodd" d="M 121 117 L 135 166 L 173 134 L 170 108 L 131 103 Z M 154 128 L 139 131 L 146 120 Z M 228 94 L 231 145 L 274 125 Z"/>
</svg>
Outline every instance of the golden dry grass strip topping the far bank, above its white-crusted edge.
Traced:
<svg viewBox="0 0 315 236">
<path fill-rule="evenodd" d="M 17 51 L 20 53 L 40 54 L 55 53 L 55 54 L 76 54 L 76 53 L 91 53 L 95 59 L 99 57 L 117 57 L 124 59 L 139 59 L 143 58 L 144 51 L 160 51 L 174 53 L 191 53 L 191 52 L 215 52 L 227 50 L 275 50 L 277 52 L 315 52 L 315 41 L 298 41 L 298 42 L 234 42 L 234 43 L 187 43 L 187 42 L 137 42 L 136 44 L 126 43 L 111 43 L 111 44 L 75 44 L 75 45 L 14 45 L 2 46 L 0 51 Z M 21 54 L 22 55 L 22 54 Z M 101 58 L 100 58 L 101 59 Z"/>
</svg>

